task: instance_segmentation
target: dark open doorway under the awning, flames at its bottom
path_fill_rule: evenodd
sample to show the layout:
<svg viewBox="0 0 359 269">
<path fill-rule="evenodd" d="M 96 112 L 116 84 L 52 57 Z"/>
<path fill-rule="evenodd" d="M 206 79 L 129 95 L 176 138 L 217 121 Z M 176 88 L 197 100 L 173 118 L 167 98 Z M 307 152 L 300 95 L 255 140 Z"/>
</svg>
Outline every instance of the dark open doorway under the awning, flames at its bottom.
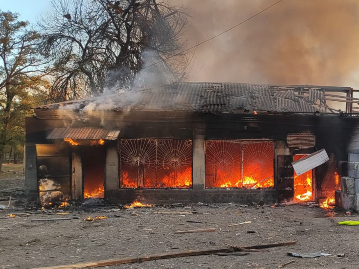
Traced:
<svg viewBox="0 0 359 269">
<path fill-rule="evenodd" d="M 104 198 L 105 147 L 83 146 L 81 159 L 84 199 Z"/>
</svg>

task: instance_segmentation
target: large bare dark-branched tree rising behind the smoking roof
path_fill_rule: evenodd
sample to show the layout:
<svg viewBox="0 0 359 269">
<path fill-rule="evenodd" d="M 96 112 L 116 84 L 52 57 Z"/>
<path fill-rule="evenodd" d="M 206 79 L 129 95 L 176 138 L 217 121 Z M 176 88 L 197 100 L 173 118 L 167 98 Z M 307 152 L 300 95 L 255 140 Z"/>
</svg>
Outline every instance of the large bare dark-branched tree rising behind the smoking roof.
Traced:
<svg viewBox="0 0 359 269">
<path fill-rule="evenodd" d="M 181 53 L 187 44 L 181 8 L 156 0 L 60 0 L 52 8 L 40 23 L 43 51 L 56 70 L 52 100 L 182 76 L 188 57 Z"/>
</svg>

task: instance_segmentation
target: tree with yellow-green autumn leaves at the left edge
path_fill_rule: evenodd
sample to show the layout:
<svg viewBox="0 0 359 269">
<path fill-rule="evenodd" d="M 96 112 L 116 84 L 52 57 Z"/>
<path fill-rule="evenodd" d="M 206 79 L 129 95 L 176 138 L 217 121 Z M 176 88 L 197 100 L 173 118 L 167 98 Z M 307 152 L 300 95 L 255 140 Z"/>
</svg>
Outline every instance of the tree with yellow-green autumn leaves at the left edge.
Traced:
<svg viewBox="0 0 359 269">
<path fill-rule="evenodd" d="M 24 134 L 27 109 L 46 84 L 40 35 L 28 24 L 17 14 L 0 10 L 0 171 L 5 146 Z"/>
</svg>

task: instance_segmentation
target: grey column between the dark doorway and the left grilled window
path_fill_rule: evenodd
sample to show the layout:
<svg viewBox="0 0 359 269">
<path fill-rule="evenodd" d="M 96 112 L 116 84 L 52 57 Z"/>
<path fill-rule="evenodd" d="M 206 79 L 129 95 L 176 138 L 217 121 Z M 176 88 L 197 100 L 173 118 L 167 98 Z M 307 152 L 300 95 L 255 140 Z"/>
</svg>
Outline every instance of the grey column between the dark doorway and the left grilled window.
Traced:
<svg viewBox="0 0 359 269">
<path fill-rule="evenodd" d="M 117 143 L 106 145 L 105 191 L 118 190 L 118 154 Z"/>
</svg>

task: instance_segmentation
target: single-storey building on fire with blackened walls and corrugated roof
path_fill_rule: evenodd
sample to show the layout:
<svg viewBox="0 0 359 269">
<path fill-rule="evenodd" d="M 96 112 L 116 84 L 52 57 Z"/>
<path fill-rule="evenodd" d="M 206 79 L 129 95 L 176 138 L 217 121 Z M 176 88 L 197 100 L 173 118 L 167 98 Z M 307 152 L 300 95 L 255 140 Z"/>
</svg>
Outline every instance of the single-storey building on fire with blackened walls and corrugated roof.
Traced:
<svg viewBox="0 0 359 269">
<path fill-rule="evenodd" d="M 184 82 L 43 105 L 26 121 L 27 188 L 42 204 L 329 200 L 359 153 L 353 91 Z M 329 160 L 297 175 L 321 149 Z"/>
</svg>

